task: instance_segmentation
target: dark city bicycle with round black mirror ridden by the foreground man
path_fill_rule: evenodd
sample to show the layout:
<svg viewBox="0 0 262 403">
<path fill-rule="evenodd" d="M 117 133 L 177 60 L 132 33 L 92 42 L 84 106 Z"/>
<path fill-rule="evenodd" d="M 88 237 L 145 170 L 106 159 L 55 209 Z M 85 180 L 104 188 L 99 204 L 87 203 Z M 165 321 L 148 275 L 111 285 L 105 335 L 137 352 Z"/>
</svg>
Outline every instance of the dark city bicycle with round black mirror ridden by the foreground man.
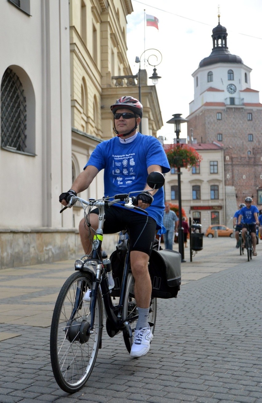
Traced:
<svg viewBox="0 0 262 403">
<path fill-rule="evenodd" d="M 164 185 L 164 176 L 160 172 L 152 172 L 147 177 L 147 184 L 151 189 L 159 189 Z M 89 201 L 70 196 L 70 202 L 65 207 L 72 207 L 75 201 L 79 201 L 87 222 L 92 207 L 99 209 L 99 226 L 93 239 L 90 256 L 83 256 L 76 260 L 77 272 L 73 273 L 61 288 L 51 322 L 52 370 L 59 387 L 68 393 L 79 391 L 94 368 L 98 350 L 102 347 L 103 302 L 108 335 L 114 337 L 122 331 L 125 346 L 129 353 L 131 351 L 138 315 L 134 278 L 130 269 L 129 241 L 127 241 L 123 279 L 117 305 L 113 304 L 101 257 L 105 206 L 121 204 L 125 208 L 140 210 L 147 214 L 145 210 L 134 206 L 136 198 L 130 197 L 131 193 L 115 195 L 113 198 L 89 199 Z M 88 290 L 90 290 L 90 301 L 87 302 L 83 298 Z M 149 308 L 149 326 L 152 333 L 156 323 L 156 309 L 156 298 L 152 298 Z"/>
</svg>

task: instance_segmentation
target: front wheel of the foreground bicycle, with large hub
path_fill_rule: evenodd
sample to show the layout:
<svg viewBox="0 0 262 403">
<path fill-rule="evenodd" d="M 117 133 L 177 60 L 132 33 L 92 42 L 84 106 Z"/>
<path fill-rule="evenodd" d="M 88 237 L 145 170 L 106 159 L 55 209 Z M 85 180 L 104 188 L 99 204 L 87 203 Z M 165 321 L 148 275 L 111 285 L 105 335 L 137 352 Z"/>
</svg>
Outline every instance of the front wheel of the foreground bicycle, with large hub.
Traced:
<svg viewBox="0 0 262 403">
<path fill-rule="evenodd" d="M 87 341 L 78 340 L 82 334 L 87 334 L 90 320 L 90 302 L 82 300 L 86 287 L 92 289 L 92 276 L 89 273 L 75 272 L 66 280 L 57 297 L 51 323 L 52 370 L 59 387 L 68 393 L 77 392 L 84 386 L 94 368 L 98 349 L 101 347 L 103 308 L 100 289 L 97 294 L 93 333 Z M 80 304 L 73 320 L 78 323 L 74 322 L 75 327 L 69 327 L 68 321 L 76 305 L 77 290 L 78 292 L 81 290 Z M 78 331 L 80 324 L 85 326 L 81 329 L 82 333 Z"/>
</svg>

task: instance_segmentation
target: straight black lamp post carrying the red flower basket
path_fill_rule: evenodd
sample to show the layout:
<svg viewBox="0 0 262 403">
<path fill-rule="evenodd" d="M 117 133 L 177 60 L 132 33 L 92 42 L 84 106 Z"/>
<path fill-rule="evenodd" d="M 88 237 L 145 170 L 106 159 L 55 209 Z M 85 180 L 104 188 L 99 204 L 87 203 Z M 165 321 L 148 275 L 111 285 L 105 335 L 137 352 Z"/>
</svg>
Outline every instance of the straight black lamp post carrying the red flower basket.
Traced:
<svg viewBox="0 0 262 403">
<path fill-rule="evenodd" d="M 179 134 L 181 131 L 181 123 L 188 122 L 187 119 L 181 118 L 181 113 L 176 113 L 173 115 L 173 118 L 168 120 L 166 123 L 173 123 L 175 125 L 175 133 L 176 133 L 176 144 L 179 144 Z M 179 218 L 179 228 L 178 228 L 178 250 L 181 255 L 181 261 L 186 262 L 184 260 L 184 229 L 182 227 L 182 203 L 181 203 L 181 175 L 180 166 L 177 168 L 178 175 L 178 218 Z"/>
</svg>

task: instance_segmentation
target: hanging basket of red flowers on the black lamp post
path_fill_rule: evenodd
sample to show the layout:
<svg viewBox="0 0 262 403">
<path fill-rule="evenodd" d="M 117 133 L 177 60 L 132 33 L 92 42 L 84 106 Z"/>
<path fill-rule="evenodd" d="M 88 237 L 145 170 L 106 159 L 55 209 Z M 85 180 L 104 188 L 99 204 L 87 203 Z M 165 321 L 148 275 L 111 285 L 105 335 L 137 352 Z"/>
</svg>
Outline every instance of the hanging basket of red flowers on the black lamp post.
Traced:
<svg viewBox="0 0 262 403">
<path fill-rule="evenodd" d="M 169 165 L 172 168 L 192 168 L 202 161 L 201 155 L 187 144 L 172 144 L 166 150 Z"/>
</svg>

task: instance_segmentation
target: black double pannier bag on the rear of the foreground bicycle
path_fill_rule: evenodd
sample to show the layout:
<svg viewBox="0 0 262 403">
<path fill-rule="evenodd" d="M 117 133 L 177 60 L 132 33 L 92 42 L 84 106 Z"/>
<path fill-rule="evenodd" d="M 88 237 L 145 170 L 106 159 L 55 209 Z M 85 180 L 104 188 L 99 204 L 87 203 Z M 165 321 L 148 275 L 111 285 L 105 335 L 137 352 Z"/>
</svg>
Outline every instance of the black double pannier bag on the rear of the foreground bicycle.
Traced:
<svg viewBox="0 0 262 403">
<path fill-rule="evenodd" d="M 115 287 L 112 297 L 119 297 L 123 278 L 125 250 L 115 250 L 110 256 Z M 152 297 L 176 298 L 181 285 L 181 255 L 176 251 L 153 249 L 149 259 Z"/>
</svg>

